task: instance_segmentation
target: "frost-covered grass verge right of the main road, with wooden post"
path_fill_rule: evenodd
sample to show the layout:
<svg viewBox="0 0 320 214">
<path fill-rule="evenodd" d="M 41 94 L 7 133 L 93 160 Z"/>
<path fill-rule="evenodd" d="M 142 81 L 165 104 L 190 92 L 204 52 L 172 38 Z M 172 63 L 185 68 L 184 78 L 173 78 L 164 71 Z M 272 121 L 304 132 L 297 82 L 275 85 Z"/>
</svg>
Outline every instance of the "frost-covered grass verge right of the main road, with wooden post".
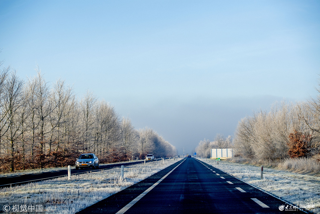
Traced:
<svg viewBox="0 0 320 214">
<path fill-rule="evenodd" d="M 264 167 L 263 180 L 260 180 L 260 167 L 228 161 L 219 161 L 217 165 L 217 161 L 213 159 L 201 160 L 285 201 L 298 206 L 314 204 L 315 209 L 311 211 L 320 214 L 320 177 L 318 176 Z"/>
</svg>

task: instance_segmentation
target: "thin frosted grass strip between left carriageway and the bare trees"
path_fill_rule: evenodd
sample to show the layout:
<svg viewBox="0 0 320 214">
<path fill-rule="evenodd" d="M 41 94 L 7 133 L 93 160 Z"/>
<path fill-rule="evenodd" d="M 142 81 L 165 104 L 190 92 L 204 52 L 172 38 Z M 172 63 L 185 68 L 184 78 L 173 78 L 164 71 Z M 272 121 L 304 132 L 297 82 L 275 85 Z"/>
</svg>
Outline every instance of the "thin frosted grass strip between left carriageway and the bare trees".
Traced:
<svg viewBox="0 0 320 214">
<path fill-rule="evenodd" d="M 141 160 L 131 160 L 130 162 L 141 161 Z M 119 163 L 128 163 L 125 162 L 117 162 L 117 163 L 109 163 L 109 164 L 100 164 L 100 166 L 106 166 L 111 164 L 119 164 Z M 71 169 L 75 167 L 71 167 Z M 27 175 L 27 174 L 35 174 L 35 173 L 44 173 L 44 172 L 54 172 L 60 170 L 68 170 L 68 167 L 50 167 L 50 168 L 43 168 L 43 169 L 26 169 L 26 170 L 16 170 L 15 172 L 2 172 L 0 173 L 0 177 L 11 177 L 11 176 L 18 176 L 18 175 Z"/>
</svg>

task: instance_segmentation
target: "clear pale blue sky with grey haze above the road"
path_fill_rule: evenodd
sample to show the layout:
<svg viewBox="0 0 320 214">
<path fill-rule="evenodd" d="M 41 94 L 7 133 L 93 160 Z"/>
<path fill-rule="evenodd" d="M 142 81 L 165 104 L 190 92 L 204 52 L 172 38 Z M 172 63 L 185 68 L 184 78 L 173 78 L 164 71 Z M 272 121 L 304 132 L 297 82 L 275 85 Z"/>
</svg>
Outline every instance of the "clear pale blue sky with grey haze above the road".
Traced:
<svg viewBox="0 0 320 214">
<path fill-rule="evenodd" d="M 315 97 L 319 1 L 0 0 L 0 59 L 39 64 L 191 152 L 275 100 Z"/>
</svg>

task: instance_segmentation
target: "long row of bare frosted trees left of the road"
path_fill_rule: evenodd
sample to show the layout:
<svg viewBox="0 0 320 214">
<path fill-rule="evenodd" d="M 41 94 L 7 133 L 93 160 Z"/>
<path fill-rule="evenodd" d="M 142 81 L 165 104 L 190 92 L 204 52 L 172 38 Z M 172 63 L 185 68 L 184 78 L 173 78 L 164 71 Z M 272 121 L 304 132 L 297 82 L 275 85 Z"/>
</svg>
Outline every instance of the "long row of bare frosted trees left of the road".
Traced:
<svg viewBox="0 0 320 214">
<path fill-rule="evenodd" d="M 84 152 L 102 162 L 176 155 L 155 131 L 136 130 L 90 91 L 78 100 L 65 81 L 45 81 L 38 66 L 27 81 L 3 61 L 0 68 L 0 171 L 66 166 Z"/>
</svg>

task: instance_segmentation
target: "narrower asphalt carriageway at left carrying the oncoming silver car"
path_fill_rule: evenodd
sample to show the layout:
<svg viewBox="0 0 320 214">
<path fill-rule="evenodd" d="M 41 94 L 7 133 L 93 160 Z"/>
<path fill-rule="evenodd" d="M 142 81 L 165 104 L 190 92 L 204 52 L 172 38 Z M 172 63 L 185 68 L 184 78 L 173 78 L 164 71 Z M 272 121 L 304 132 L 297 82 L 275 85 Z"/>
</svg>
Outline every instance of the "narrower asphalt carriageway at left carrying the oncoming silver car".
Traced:
<svg viewBox="0 0 320 214">
<path fill-rule="evenodd" d="M 167 159 L 167 158 L 164 158 L 164 159 Z M 161 158 L 158 158 L 156 160 L 161 160 Z M 76 170 L 75 167 L 71 167 L 71 175 L 86 173 L 89 171 L 99 171 L 99 170 L 109 169 L 109 168 L 114 168 L 114 167 L 121 167 L 121 165 L 128 166 L 128 165 L 139 164 L 139 163 L 143 163 L 143 162 L 144 162 L 144 160 L 126 162 L 126 163 L 100 165 L 98 170 L 92 169 L 92 168 Z M 10 176 L 9 175 L 7 177 L 0 177 L 0 188 L 26 184 L 26 183 L 30 183 L 30 182 L 37 182 L 40 180 L 47 180 L 47 179 L 52 179 L 52 178 L 61 177 L 61 176 L 68 176 L 68 170 L 64 169 L 64 170 L 59 170 L 59 171 L 17 175 L 17 176 Z"/>
</svg>

